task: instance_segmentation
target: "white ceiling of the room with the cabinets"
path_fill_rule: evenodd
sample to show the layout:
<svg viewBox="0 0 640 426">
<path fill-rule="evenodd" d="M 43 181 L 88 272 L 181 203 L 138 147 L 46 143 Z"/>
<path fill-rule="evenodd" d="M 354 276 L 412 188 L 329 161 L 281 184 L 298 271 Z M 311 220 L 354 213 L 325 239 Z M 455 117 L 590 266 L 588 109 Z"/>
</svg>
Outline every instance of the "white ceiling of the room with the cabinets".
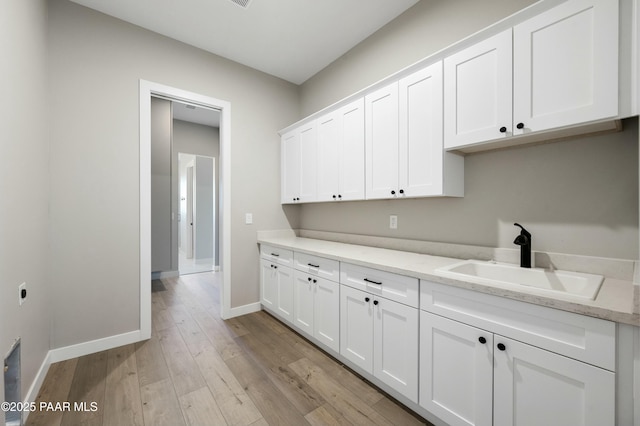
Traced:
<svg viewBox="0 0 640 426">
<path fill-rule="evenodd" d="M 71 1 L 302 84 L 419 0 Z"/>
</svg>

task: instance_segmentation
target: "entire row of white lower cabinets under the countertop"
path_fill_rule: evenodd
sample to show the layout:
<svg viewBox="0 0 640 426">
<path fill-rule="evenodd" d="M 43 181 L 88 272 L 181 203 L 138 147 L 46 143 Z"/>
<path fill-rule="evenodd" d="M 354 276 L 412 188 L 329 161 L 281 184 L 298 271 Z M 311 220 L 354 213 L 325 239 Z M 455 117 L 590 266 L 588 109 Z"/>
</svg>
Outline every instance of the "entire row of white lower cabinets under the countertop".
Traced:
<svg viewBox="0 0 640 426">
<path fill-rule="evenodd" d="M 411 409 L 450 426 L 616 424 L 625 370 L 611 321 L 275 246 L 260 253 L 262 306 Z"/>
</svg>

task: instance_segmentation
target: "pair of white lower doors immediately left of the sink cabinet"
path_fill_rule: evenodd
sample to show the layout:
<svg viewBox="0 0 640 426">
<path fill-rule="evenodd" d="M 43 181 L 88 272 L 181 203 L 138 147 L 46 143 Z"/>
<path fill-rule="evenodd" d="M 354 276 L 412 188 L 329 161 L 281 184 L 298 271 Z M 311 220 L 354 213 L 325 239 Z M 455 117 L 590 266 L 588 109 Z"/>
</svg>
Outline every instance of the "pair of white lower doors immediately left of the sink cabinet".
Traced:
<svg viewBox="0 0 640 426">
<path fill-rule="evenodd" d="M 418 401 L 418 309 L 340 286 L 340 354 Z"/>
</svg>

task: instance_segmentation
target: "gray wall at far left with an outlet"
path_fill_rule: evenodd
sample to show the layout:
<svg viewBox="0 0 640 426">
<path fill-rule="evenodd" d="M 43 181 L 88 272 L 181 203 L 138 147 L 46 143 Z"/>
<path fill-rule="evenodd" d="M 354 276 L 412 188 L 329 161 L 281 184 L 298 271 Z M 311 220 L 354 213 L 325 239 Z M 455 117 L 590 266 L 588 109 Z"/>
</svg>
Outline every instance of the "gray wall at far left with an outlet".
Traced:
<svg viewBox="0 0 640 426">
<path fill-rule="evenodd" d="M 0 355 L 22 338 L 24 397 L 49 350 L 51 329 L 47 3 L 6 0 L 0 10 Z M 19 307 L 22 282 L 28 296 Z"/>
</svg>

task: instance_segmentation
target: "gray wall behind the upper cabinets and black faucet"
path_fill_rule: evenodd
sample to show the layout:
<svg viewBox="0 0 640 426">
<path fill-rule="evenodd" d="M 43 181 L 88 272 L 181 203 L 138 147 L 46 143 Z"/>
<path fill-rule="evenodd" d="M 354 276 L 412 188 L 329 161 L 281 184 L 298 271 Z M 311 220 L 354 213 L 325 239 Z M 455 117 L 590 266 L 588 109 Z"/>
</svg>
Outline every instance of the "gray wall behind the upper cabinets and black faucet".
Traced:
<svg viewBox="0 0 640 426">
<path fill-rule="evenodd" d="M 308 115 L 513 13 L 533 1 L 421 1 L 307 81 Z M 534 249 L 638 258 L 638 125 L 467 156 L 465 197 L 300 206 L 300 228 L 515 247 L 513 222 Z M 398 229 L 389 229 L 389 215 Z"/>
</svg>

